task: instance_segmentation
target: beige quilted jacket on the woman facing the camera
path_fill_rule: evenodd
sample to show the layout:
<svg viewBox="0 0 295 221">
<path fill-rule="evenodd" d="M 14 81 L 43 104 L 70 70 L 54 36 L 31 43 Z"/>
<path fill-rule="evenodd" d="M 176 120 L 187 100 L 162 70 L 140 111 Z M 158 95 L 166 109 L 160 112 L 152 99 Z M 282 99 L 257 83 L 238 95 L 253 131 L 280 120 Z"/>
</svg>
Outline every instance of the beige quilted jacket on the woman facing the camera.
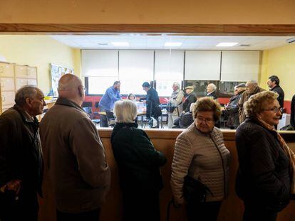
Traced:
<svg viewBox="0 0 295 221">
<path fill-rule="evenodd" d="M 176 139 L 172 161 L 171 188 L 177 203 L 184 203 L 183 181 L 187 174 L 205 183 L 213 195 L 207 194 L 207 202 L 223 200 L 229 183 L 230 154 L 222 131 L 214 127 L 209 134 L 190 125 Z"/>
</svg>

